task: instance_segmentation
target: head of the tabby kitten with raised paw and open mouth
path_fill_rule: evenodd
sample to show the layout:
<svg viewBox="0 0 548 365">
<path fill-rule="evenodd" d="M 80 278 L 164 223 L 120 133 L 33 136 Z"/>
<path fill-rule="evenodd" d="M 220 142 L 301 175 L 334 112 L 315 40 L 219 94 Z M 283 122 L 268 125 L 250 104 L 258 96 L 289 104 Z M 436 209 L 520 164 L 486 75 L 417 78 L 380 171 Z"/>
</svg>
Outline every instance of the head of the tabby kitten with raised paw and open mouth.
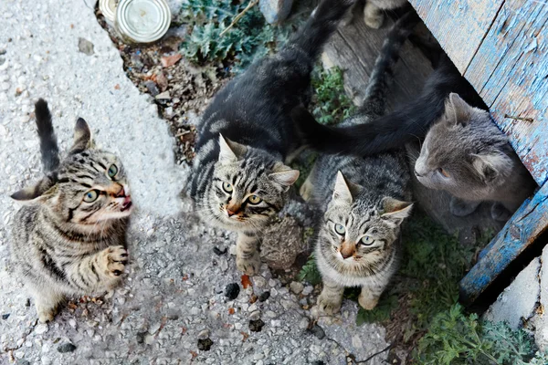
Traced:
<svg viewBox="0 0 548 365">
<path fill-rule="evenodd" d="M 90 130 L 79 120 L 75 144 L 58 169 L 36 185 L 12 195 L 26 204 L 40 204 L 62 223 L 92 225 L 132 213 L 132 198 L 120 159 L 89 149 Z"/>
</svg>

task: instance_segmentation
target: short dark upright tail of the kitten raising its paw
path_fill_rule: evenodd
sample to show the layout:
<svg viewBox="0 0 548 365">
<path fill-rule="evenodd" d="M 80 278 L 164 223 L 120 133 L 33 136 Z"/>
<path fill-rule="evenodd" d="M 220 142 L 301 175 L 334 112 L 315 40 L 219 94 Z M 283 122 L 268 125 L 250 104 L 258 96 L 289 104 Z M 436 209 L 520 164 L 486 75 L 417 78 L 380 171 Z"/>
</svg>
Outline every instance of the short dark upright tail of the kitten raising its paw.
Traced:
<svg viewBox="0 0 548 365">
<path fill-rule="evenodd" d="M 46 172 L 58 168 L 59 149 L 57 137 L 51 123 L 51 113 L 47 108 L 44 99 L 38 99 L 35 104 L 35 116 L 37 120 L 38 137 L 40 138 L 40 152 L 42 153 L 42 164 Z"/>
</svg>

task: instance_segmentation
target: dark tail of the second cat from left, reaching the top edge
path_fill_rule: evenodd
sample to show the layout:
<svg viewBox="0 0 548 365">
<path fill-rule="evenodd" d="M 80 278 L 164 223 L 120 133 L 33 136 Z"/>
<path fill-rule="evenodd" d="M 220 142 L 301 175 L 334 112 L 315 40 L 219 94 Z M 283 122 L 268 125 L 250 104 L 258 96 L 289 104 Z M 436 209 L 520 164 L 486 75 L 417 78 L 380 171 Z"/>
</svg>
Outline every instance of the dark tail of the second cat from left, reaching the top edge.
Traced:
<svg viewBox="0 0 548 365">
<path fill-rule="evenodd" d="M 298 48 L 315 62 L 323 45 L 337 29 L 339 21 L 356 0 L 322 0 L 304 26 L 290 38 L 286 49 Z"/>
</svg>

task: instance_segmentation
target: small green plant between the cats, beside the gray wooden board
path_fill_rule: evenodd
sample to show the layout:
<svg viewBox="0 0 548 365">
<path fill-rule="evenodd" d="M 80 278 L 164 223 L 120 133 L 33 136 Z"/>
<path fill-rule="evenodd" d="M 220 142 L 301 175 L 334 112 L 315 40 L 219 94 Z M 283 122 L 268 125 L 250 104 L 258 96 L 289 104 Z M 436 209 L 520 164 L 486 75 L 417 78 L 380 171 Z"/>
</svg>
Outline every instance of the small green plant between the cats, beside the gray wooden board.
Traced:
<svg viewBox="0 0 548 365">
<path fill-rule="evenodd" d="M 312 114 L 322 124 L 339 123 L 356 110 L 352 100 L 344 92 L 341 68 L 316 67 L 312 74 Z"/>
</svg>

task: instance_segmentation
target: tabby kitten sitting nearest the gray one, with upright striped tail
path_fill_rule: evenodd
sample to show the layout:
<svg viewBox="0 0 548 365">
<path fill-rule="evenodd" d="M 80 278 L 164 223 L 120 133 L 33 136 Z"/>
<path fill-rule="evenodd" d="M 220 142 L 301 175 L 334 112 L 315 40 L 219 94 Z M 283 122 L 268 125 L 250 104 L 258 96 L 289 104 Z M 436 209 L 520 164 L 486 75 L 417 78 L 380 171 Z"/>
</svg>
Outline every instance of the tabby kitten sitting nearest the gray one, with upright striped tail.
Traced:
<svg viewBox="0 0 548 365">
<path fill-rule="evenodd" d="M 367 123 L 385 113 L 399 49 L 417 21 L 416 15 L 407 14 L 395 23 L 375 62 L 364 104 L 343 126 Z M 293 115 L 313 118 L 302 109 Z M 322 312 L 339 311 L 344 287 L 362 287 L 359 303 L 364 309 L 377 305 L 398 267 L 400 225 L 413 207 L 409 183 L 404 151 L 318 158 L 300 193 L 321 205 L 315 257 L 323 281 L 318 297 Z"/>
</svg>

